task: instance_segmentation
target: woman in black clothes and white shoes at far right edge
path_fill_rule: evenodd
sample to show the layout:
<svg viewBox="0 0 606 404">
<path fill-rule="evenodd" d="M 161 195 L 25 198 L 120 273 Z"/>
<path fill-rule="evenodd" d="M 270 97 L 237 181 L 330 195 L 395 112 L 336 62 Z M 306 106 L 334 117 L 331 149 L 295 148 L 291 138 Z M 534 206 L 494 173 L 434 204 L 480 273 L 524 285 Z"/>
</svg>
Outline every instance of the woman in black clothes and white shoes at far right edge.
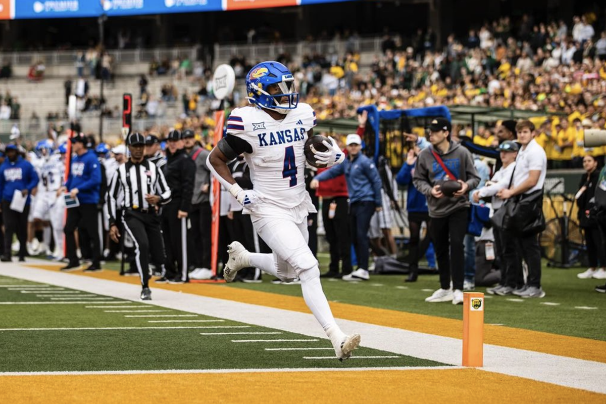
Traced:
<svg viewBox="0 0 606 404">
<path fill-rule="evenodd" d="M 602 240 L 598 223 L 594 218 L 590 218 L 588 215 L 591 205 L 593 204 L 591 199 L 593 199 L 594 194 L 596 193 L 596 186 L 600 175 L 596 158 L 591 155 L 586 155 L 583 158 L 583 169 L 585 170 L 585 173 L 581 176 L 579 190 L 574 198 L 579 207 L 579 226 L 583 229 L 585 244 L 587 244 L 589 268 L 587 271 L 581 272 L 581 274 L 577 274 L 576 276 L 581 279 L 606 279 L 606 271 L 604 270 L 604 267 L 606 266 L 604 241 Z"/>
</svg>

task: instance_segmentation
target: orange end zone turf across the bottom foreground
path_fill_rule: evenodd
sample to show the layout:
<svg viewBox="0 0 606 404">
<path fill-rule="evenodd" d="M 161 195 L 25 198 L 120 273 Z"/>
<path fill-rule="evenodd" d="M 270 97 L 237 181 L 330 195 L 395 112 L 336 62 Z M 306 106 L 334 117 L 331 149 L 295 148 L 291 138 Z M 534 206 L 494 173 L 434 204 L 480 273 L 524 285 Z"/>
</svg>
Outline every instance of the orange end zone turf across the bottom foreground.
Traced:
<svg viewBox="0 0 606 404">
<path fill-rule="evenodd" d="M 0 377 L 5 403 L 604 403 L 606 396 L 477 369 Z"/>
</svg>

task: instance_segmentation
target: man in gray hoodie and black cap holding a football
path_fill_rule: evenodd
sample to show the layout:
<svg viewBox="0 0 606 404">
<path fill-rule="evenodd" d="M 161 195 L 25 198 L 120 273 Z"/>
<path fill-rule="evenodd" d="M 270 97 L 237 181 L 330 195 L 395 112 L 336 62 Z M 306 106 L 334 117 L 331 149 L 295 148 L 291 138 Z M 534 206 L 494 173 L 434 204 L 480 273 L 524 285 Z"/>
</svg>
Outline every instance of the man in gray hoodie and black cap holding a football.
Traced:
<svg viewBox="0 0 606 404">
<path fill-rule="evenodd" d="M 450 140 L 450 121 L 436 118 L 428 130 L 431 146 L 419 153 L 413 183 L 427 197 L 429 231 L 438 258 L 441 288 L 425 301 L 459 305 L 463 303 L 463 240 L 470 207 L 467 192 L 478 186 L 480 177 L 471 153 Z M 459 190 L 447 195 L 453 187 Z"/>
</svg>

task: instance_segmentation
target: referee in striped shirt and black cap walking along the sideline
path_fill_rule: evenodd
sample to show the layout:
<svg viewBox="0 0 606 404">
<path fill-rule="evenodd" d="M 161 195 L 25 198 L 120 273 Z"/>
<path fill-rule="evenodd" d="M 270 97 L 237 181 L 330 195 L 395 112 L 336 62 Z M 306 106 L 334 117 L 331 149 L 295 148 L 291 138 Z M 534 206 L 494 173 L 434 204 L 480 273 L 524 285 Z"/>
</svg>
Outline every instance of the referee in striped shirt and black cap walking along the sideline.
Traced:
<svg viewBox="0 0 606 404">
<path fill-rule="evenodd" d="M 128 150 L 130 160 L 118 167 L 107 192 L 110 237 L 118 243 L 120 232 L 116 221 L 121 219 L 135 243 L 135 263 L 143 287 L 141 300 L 151 300 L 150 256 L 162 267 L 165 261 L 161 220 L 156 209 L 170 201 L 171 193 L 162 170 L 144 159 L 145 137 L 141 133 L 128 136 Z M 116 217 L 118 200 L 122 202 L 122 218 Z"/>
</svg>

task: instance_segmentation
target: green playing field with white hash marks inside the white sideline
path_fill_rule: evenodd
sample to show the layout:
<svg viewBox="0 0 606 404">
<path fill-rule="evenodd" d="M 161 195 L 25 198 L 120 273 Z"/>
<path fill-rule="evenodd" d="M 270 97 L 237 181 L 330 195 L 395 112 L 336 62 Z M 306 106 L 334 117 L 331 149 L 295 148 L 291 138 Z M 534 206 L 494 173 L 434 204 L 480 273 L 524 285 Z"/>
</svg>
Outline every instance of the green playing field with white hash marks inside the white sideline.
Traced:
<svg viewBox="0 0 606 404">
<path fill-rule="evenodd" d="M 10 277 L 0 277 L 0 285 L 0 303 L 72 302 L 0 304 L 0 372 L 444 365 L 370 348 L 355 355 L 396 357 L 341 363 L 328 340 L 68 288 L 35 288 L 38 284 Z M 141 315 L 163 317 L 127 317 Z M 217 332 L 271 334 L 208 335 Z M 232 342 L 259 339 L 306 341 Z"/>
</svg>

